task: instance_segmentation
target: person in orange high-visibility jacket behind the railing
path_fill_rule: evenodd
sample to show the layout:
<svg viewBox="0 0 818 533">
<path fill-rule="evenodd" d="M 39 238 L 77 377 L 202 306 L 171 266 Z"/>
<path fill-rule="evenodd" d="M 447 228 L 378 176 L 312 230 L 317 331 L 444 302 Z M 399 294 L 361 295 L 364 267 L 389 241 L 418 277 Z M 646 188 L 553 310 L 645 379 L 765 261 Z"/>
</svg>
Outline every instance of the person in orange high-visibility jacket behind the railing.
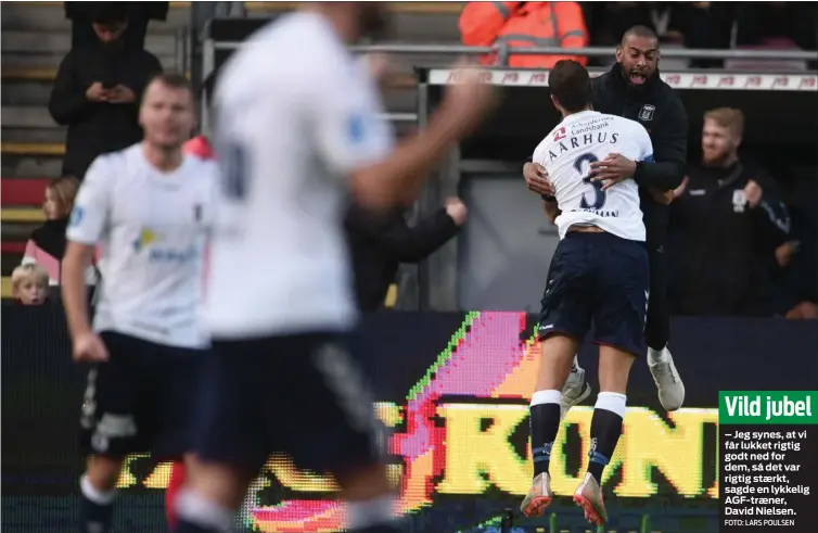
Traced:
<svg viewBox="0 0 818 533">
<path fill-rule="evenodd" d="M 508 45 L 515 48 L 584 48 L 588 46 L 585 17 L 578 2 L 469 2 L 460 14 L 463 45 L 490 47 Z M 515 55 L 509 66 L 551 68 L 560 60 L 574 60 L 583 65 L 587 58 L 574 55 Z M 495 64 L 497 56 L 483 59 Z"/>
</svg>

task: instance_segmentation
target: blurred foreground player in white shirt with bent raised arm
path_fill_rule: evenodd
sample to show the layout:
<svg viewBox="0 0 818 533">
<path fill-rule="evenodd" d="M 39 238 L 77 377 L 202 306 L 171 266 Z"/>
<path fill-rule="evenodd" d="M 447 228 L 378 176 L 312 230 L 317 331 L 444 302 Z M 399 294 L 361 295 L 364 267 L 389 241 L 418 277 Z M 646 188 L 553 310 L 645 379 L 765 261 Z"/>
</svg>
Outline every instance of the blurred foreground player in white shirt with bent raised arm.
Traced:
<svg viewBox="0 0 818 533">
<path fill-rule="evenodd" d="M 232 530 L 272 452 L 334 475 L 348 530 L 397 526 L 373 398 L 346 346 L 358 317 L 344 196 L 348 189 L 368 208 L 411 203 L 430 166 L 477 125 L 493 89 L 464 73 L 429 128 L 394 147 L 378 88 L 346 48 L 380 29 L 381 5 L 305 5 L 254 34 L 221 69 L 205 309 L 214 351 L 178 533 Z"/>
</svg>

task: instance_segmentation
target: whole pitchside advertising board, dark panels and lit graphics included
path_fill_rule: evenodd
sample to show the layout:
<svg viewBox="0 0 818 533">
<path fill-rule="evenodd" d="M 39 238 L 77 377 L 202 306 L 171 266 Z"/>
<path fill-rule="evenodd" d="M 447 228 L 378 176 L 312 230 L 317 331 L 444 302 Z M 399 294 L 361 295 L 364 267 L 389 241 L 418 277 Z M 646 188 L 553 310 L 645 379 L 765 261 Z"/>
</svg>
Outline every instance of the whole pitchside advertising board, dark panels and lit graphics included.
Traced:
<svg viewBox="0 0 818 533">
<path fill-rule="evenodd" d="M 383 313 L 365 320 L 357 339 L 361 366 L 389 431 L 400 509 L 416 531 L 473 528 L 526 491 L 527 404 L 538 361 L 534 325 L 522 313 L 493 312 Z M 4 526 L 73 531 L 86 370 L 71 361 L 57 305 L 5 305 L 2 331 Z M 606 491 L 617 496 L 614 531 L 638 529 L 644 516 L 655 517 L 652 531 L 715 531 L 718 391 L 815 385 L 809 372 L 792 371 L 811 365 L 818 328 L 808 322 L 677 319 L 673 344 L 686 407 L 664 413 L 647 366 L 637 363 L 625 436 L 606 471 Z M 595 383 L 592 345 L 583 347 L 580 360 Z M 590 416 L 591 406 L 573 409 L 558 439 L 558 495 L 568 494 L 585 468 Z M 168 474 L 167 465 L 148 455 L 129 458 L 119 481 L 118 531 L 162 526 Z M 251 530 L 325 531 L 342 523 L 331 480 L 298 472 L 286 457 L 272 457 L 254 486 L 243 516 Z M 581 517 L 572 507 L 554 509 L 561 528 L 578 526 Z M 517 524 L 534 531 L 526 525 L 535 523 Z"/>
</svg>

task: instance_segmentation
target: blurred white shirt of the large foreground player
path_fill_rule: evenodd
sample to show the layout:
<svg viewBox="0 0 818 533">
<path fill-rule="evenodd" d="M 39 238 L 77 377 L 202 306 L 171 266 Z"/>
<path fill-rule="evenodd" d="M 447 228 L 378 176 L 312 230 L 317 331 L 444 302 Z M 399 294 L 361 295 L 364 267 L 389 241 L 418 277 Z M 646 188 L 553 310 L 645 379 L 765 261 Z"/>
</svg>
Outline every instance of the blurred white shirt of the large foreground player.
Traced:
<svg viewBox="0 0 818 533">
<path fill-rule="evenodd" d="M 345 330 L 357 320 L 346 177 L 394 134 L 378 88 L 317 13 L 280 17 L 223 67 L 206 323 L 217 338 Z"/>
</svg>

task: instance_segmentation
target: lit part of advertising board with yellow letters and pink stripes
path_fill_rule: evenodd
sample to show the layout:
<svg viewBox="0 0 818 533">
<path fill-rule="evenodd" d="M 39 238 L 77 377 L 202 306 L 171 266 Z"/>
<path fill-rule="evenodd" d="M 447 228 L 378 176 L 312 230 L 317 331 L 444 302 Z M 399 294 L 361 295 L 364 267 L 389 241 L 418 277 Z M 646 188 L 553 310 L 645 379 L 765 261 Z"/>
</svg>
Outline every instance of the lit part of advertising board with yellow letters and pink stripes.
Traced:
<svg viewBox="0 0 818 533">
<path fill-rule="evenodd" d="M 374 405 L 392 430 L 389 472 L 399 491 L 398 512 L 421 512 L 446 498 L 522 497 L 528 490 L 528 399 L 539 345 L 533 337 L 525 340 L 525 331 L 524 314 L 470 313 L 402 405 Z M 587 467 L 591 414 L 590 406 L 572 409 L 560 430 L 551 459 L 558 495 L 572 494 Z M 622 498 L 717 498 L 716 424 L 716 408 L 680 409 L 663 418 L 629 407 L 604 483 Z M 131 465 L 144 457 L 129 458 L 120 488 L 167 485 L 169 465 L 141 479 L 132 473 Z M 271 486 L 280 487 L 276 502 L 261 497 Z M 338 531 L 344 509 L 333 500 L 335 491 L 331 479 L 298 471 L 287 457 L 271 457 L 252 487 L 245 525 L 266 533 Z"/>
</svg>

